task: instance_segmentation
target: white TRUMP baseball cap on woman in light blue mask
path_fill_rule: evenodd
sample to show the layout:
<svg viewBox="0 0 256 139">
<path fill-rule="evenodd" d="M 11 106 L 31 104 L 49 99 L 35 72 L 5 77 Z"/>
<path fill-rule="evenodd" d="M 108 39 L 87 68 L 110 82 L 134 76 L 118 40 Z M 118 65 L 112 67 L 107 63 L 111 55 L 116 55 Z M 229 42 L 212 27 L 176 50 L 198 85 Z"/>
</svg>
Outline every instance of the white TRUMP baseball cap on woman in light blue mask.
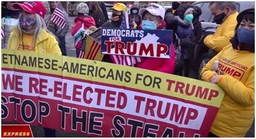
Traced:
<svg viewBox="0 0 256 139">
<path fill-rule="evenodd" d="M 152 3 L 147 8 L 140 9 L 139 14 L 143 15 L 146 11 L 150 12 L 153 16 L 160 16 L 162 19 L 165 18 L 165 9 L 163 9 L 163 6 L 160 6 L 159 4 Z"/>
</svg>

